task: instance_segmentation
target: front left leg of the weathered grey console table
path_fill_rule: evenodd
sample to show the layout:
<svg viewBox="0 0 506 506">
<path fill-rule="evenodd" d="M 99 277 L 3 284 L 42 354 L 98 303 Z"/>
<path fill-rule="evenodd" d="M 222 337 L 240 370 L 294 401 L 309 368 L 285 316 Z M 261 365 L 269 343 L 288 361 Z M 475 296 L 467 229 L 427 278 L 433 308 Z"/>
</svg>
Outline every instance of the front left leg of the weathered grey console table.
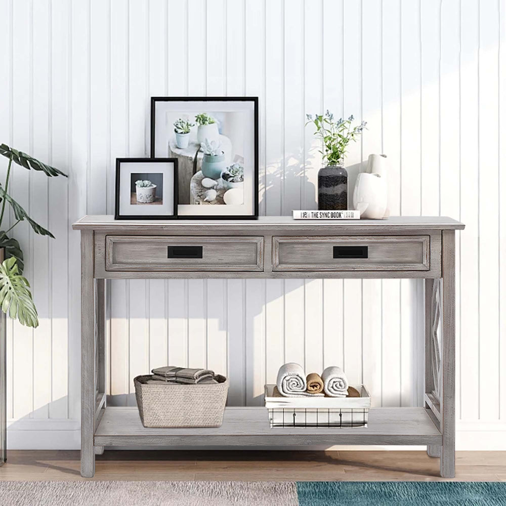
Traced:
<svg viewBox="0 0 506 506">
<path fill-rule="evenodd" d="M 81 476 L 95 474 L 95 294 L 93 231 L 81 232 Z"/>
</svg>

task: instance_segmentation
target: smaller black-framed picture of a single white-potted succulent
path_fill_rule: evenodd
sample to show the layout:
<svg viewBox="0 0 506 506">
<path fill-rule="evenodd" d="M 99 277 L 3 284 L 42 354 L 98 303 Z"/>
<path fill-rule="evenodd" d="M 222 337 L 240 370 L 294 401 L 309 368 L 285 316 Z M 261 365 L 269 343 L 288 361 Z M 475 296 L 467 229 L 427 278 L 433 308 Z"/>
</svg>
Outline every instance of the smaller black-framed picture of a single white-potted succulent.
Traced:
<svg viewBox="0 0 506 506">
<path fill-rule="evenodd" d="M 115 220 L 178 217 L 176 158 L 116 158 Z"/>
</svg>

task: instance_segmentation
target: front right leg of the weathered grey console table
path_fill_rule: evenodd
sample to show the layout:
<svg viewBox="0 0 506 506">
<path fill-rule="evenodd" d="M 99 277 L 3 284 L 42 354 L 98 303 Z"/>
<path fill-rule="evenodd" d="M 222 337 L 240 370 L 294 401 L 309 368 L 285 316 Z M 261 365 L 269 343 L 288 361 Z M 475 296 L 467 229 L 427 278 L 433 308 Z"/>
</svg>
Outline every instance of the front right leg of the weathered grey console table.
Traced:
<svg viewBox="0 0 506 506">
<path fill-rule="evenodd" d="M 443 478 L 455 476 L 455 231 L 443 230 L 441 448 Z"/>
</svg>

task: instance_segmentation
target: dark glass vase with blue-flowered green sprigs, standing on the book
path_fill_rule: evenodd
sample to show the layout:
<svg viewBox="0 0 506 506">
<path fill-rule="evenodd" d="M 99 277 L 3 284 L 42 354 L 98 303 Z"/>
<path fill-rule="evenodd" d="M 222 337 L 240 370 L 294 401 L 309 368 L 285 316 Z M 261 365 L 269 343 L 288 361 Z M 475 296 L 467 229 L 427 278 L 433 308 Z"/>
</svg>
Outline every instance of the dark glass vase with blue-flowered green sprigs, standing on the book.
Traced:
<svg viewBox="0 0 506 506">
<path fill-rule="evenodd" d="M 353 115 L 348 119 L 334 119 L 331 112 L 306 115 L 308 123 L 316 127 L 315 136 L 322 143 L 323 161 L 325 167 L 318 172 L 318 209 L 343 210 L 348 208 L 348 172 L 344 167 L 347 146 L 350 141 L 356 141 L 365 128 L 366 122 L 352 128 Z"/>
</svg>

